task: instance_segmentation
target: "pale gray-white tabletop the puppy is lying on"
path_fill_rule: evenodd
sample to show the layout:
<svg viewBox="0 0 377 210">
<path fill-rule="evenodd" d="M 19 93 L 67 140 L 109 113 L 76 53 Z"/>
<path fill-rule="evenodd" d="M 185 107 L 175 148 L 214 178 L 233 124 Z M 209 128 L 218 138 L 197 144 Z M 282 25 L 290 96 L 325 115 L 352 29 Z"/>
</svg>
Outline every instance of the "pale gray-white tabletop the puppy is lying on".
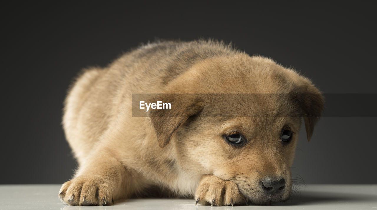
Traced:
<svg viewBox="0 0 377 210">
<path fill-rule="evenodd" d="M 59 184 L 0 185 L 0 209 L 174 209 L 174 210 L 243 210 L 243 209 L 374 209 L 377 210 L 377 184 L 334 185 L 308 184 L 300 195 L 270 206 L 211 207 L 196 205 L 193 199 L 128 199 L 112 206 L 69 206 L 58 198 Z"/>
</svg>

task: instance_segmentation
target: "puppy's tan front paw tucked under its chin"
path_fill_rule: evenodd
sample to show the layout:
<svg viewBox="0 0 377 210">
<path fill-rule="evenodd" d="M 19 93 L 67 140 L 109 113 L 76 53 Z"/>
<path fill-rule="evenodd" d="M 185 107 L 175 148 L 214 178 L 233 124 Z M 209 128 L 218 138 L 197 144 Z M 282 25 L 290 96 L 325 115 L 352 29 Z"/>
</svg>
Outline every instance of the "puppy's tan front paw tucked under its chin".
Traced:
<svg viewBox="0 0 377 210">
<path fill-rule="evenodd" d="M 222 180 L 214 175 L 204 175 L 195 192 L 196 204 L 231 205 L 245 204 L 244 196 L 232 181 Z"/>
</svg>

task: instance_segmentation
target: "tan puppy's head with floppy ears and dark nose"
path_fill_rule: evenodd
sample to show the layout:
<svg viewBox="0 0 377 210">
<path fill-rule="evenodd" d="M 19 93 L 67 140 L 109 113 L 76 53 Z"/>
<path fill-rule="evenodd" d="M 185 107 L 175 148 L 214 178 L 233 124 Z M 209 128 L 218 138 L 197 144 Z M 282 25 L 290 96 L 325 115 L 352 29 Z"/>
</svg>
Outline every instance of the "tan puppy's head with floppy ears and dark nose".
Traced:
<svg viewBox="0 0 377 210">
<path fill-rule="evenodd" d="M 241 54 L 195 65 L 165 93 L 180 94 L 163 94 L 171 110 L 149 116 L 185 170 L 231 180 L 254 204 L 288 199 L 302 118 L 310 140 L 323 107 L 307 78 Z"/>
</svg>

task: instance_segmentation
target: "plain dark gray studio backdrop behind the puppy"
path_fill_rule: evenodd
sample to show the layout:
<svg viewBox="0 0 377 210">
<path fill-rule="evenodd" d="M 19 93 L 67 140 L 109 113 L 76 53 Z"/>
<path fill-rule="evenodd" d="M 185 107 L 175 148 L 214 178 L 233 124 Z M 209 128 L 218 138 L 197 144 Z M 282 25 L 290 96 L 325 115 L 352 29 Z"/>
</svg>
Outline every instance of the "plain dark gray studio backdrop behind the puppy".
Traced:
<svg viewBox="0 0 377 210">
<path fill-rule="evenodd" d="M 325 93 L 377 93 L 374 8 L 308 1 L 3 4 L 0 184 L 68 180 L 76 163 L 61 110 L 72 78 L 155 37 L 232 41 L 296 67 Z M 293 172 L 307 183 L 377 183 L 376 126 L 376 117 L 323 117 L 310 143 L 302 131 Z"/>
</svg>

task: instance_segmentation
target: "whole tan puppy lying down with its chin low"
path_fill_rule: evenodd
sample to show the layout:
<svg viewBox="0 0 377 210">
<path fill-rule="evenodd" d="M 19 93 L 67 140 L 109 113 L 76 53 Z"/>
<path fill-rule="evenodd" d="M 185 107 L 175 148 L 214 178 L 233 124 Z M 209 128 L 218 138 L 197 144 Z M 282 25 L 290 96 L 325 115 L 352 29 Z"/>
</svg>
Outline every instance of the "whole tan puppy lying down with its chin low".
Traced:
<svg viewBox="0 0 377 210">
<path fill-rule="evenodd" d="M 132 93 L 171 109 L 135 117 Z M 108 205 L 158 187 L 205 205 L 284 201 L 301 118 L 310 139 L 322 107 L 307 78 L 223 43 L 141 46 L 70 88 L 63 125 L 79 168 L 59 196 Z"/>
</svg>

